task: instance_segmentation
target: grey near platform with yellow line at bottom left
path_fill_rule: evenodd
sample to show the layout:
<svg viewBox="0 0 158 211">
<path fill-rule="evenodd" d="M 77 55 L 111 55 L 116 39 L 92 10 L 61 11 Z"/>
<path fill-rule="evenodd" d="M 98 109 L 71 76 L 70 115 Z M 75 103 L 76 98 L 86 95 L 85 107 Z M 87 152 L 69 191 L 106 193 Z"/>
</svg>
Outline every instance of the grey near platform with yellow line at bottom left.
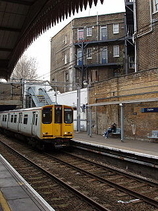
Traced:
<svg viewBox="0 0 158 211">
<path fill-rule="evenodd" d="M 0 211 L 55 211 L 0 155 Z"/>
</svg>

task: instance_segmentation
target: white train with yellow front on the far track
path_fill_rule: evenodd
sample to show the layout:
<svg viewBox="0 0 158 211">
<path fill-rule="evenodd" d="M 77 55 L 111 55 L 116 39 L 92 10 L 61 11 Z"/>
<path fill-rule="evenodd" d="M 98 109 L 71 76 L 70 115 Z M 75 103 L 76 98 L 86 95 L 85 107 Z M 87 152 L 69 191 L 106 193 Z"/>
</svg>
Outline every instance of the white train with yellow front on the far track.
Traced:
<svg viewBox="0 0 158 211">
<path fill-rule="evenodd" d="M 73 108 L 46 105 L 0 112 L 0 131 L 29 142 L 33 147 L 70 146 L 74 137 Z"/>
</svg>

